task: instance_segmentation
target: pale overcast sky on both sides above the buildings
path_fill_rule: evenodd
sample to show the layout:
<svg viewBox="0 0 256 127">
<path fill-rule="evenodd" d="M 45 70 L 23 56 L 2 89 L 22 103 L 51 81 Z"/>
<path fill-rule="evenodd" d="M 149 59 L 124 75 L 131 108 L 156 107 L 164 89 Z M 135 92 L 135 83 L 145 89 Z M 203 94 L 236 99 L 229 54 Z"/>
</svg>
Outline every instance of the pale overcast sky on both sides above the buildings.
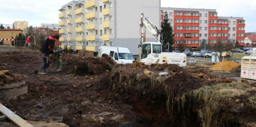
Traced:
<svg viewBox="0 0 256 127">
<path fill-rule="evenodd" d="M 0 24 L 58 23 L 58 10 L 71 0 L 1 0 Z M 161 0 L 161 7 L 217 9 L 218 16 L 244 17 L 245 32 L 256 32 L 256 0 Z"/>
</svg>

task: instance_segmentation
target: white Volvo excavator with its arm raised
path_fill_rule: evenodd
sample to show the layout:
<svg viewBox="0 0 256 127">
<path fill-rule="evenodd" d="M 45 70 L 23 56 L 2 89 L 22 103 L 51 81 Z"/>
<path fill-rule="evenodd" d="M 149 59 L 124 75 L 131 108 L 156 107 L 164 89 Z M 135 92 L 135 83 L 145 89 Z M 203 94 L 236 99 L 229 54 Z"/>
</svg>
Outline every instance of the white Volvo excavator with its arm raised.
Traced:
<svg viewBox="0 0 256 127">
<path fill-rule="evenodd" d="M 168 63 L 178 64 L 180 67 L 186 67 L 187 56 L 184 53 L 171 53 L 163 52 L 163 47 L 167 46 L 169 50 L 169 43 L 163 45 L 163 34 L 143 13 L 141 14 L 140 24 L 140 35 L 141 41 L 138 45 L 140 48 L 139 58 L 140 62 L 144 62 L 147 65 L 153 63 Z M 145 42 L 146 41 L 146 28 L 155 36 L 156 42 Z"/>
</svg>

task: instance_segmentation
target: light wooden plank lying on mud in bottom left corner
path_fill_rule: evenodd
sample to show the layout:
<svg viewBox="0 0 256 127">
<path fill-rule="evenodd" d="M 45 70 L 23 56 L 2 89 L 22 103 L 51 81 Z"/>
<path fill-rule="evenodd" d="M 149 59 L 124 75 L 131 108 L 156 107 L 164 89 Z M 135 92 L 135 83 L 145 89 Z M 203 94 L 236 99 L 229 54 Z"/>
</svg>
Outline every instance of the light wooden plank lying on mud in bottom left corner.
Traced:
<svg viewBox="0 0 256 127">
<path fill-rule="evenodd" d="M 34 127 L 0 103 L 0 112 L 19 127 Z"/>
</svg>

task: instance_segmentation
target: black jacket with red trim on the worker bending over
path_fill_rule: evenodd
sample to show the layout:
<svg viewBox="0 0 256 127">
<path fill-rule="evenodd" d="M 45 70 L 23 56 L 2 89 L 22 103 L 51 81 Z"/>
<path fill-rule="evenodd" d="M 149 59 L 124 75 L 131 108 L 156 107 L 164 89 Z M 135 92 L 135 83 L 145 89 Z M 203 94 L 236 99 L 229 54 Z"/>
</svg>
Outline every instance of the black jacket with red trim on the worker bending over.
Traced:
<svg viewBox="0 0 256 127">
<path fill-rule="evenodd" d="M 44 53 L 45 55 L 53 54 L 54 43 L 55 43 L 55 40 L 54 40 L 53 36 L 49 36 L 45 40 L 45 42 L 44 42 L 42 48 L 40 49 L 40 51 L 42 53 Z"/>
</svg>

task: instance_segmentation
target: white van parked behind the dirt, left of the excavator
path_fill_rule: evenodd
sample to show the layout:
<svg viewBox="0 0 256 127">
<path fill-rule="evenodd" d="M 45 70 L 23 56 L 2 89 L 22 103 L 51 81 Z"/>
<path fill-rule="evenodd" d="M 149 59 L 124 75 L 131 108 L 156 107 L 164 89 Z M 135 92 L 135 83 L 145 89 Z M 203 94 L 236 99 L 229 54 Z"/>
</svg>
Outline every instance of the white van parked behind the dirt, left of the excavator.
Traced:
<svg viewBox="0 0 256 127">
<path fill-rule="evenodd" d="M 98 57 L 101 57 L 104 53 L 110 55 L 118 64 L 130 64 L 134 60 L 129 48 L 100 46 Z"/>
</svg>

